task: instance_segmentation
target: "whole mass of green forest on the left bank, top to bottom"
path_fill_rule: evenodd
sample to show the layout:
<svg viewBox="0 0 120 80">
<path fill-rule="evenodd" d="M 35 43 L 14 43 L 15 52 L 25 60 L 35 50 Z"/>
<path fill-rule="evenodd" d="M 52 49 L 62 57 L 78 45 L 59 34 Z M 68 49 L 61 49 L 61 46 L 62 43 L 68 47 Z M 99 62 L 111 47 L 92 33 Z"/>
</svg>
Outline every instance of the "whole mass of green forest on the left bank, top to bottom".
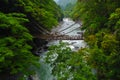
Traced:
<svg viewBox="0 0 120 80">
<path fill-rule="evenodd" d="M 39 57 L 31 52 L 32 35 L 40 34 L 40 27 L 50 30 L 61 18 L 53 0 L 0 0 L 0 79 L 33 73 Z"/>
</svg>

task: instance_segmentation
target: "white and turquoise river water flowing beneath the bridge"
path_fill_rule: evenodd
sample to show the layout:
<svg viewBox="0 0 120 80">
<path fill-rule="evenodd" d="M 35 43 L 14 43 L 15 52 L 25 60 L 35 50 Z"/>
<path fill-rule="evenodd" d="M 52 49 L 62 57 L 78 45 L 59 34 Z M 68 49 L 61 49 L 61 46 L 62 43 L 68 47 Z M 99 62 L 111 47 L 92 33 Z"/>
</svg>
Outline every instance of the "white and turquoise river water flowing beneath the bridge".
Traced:
<svg viewBox="0 0 120 80">
<path fill-rule="evenodd" d="M 79 32 L 82 32 L 80 30 L 80 27 L 81 27 L 80 23 L 75 23 L 70 18 L 64 18 L 63 22 L 57 28 L 53 29 L 52 32 L 59 32 L 59 34 L 67 33 L 67 35 L 80 35 L 78 34 Z M 80 48 L 86 47 L 86 43 L 84 42 L 84 40 L 62 40 L 62 41 L 69 43 L 70 44 L 69 47 L 73 51 L 77 51 Z M 59 40 L 53 40 L 53 41 L 49 41 L 47 46 L 57 45 L 57 44 L 59 44 Z M 50 67 L 49 64 L 46 64 L 44 62 L 43 59 L 44 56 L 45 55 L 41 56 L 40 69 L 37 70 L 37 74 L 36 74 L 37 77 L 35 77 L 34 80 L 55 80 L 54 76 L 51 74 L 52 68 Z"/>
</svg>

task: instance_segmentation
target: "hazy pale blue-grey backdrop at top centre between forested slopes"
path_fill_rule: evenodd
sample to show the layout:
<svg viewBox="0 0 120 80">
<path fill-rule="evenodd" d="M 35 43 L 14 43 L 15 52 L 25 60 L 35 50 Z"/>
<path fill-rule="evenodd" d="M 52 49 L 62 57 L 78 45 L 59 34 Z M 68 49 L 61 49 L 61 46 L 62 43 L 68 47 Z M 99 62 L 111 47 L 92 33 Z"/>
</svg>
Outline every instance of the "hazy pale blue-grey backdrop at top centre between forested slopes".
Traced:
<svg viewBox="0 0 120 80">
<path fill-rule="evenodd" d="M 77 0 L 55 0 L 55 1 L 58 5 L 60 5 L 62 9 L 65 9 L 65 7 L 68 4 L 75 4 L 77 2 Z"/>
</svg>

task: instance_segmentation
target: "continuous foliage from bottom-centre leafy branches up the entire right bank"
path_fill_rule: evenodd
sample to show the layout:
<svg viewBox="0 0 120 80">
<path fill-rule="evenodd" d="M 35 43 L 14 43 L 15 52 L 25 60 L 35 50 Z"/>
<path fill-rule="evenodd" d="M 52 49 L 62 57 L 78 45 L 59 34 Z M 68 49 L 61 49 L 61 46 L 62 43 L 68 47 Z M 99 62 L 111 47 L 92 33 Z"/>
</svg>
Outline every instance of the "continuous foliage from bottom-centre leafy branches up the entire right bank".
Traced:
<svg viewBox="0 0 120 80">
<path fill-rule="evenodd" d="M 120 80 L 120 1 L 78 0 L 72 18 L 82 21 L 89 48 L 51 46 L 46 61 L 53 74 L 58 80 Z"/>
</svg>

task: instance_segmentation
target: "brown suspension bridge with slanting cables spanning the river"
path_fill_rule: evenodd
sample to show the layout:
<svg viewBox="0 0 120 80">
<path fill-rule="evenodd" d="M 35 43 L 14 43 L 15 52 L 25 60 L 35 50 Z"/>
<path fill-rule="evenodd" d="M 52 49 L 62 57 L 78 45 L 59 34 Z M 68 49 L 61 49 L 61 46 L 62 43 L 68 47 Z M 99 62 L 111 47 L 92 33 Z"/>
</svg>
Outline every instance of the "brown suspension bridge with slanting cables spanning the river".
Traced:
<svg viewBox="0 0 120 80">
<path fill-rule="evenodd" d="M 76 29 L 79 29 L 80 27 L 77 27 L 69 32 L 66 32 L 64 34 L 61 34 L 61 32 L 71 28 L 74 26 L 76 23 L 66 27 L 65 29 L 62 29 L 58 32 L 49 32 L 46 29 L 42 28 L 39 24 L 37 26 L 39 27 L 39 32 L 43 32 L 41 35 L 35 35 L 35 38 L 40 38 L 40 39 L 45 39 L 45 40 L 83 40 L 83 32 L 78 32 L 78 35 L 67 35 L 68 33 L 73 32 Z M 80 25 L 81 26 L 81 25 Z M 36 27 L 37 28 L 37 27 Z M 37 29 L 38 30 L 38 29 Z"/>
</svg>

